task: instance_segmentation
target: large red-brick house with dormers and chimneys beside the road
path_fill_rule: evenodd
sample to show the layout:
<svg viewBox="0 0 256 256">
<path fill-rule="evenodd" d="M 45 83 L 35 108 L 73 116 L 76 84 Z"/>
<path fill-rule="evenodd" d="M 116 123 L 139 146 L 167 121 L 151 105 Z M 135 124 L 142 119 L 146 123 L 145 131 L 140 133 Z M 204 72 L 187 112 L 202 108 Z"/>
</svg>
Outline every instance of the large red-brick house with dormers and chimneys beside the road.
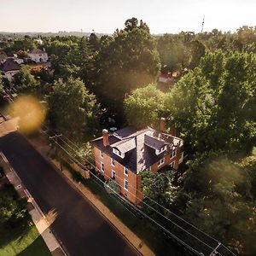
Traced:
<svg viewBox="0 0 256 256">
<path fill-rule="evenodd" d="M 103 130 L 102 137 L 92 141 L 96 172 L 106 180 L 112 177 L 120 193 L 134 204 L 143 201 L 140 172 L 177 170 L 183 161 L 183 140 L 165 132 L 165 121 L 160 120 L 160 131 L 129 126 L 112 134 Z"/>
</svg>

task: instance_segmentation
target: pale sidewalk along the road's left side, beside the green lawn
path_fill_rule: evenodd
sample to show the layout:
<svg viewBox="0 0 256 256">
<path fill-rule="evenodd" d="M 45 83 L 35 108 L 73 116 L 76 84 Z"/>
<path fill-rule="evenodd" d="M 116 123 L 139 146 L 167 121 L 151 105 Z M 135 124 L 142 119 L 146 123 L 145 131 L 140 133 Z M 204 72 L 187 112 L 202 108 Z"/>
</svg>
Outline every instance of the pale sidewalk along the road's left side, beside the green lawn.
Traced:
<svg viewBox="0 0 256 256">
<path fill-rule="evenodd" d="M 21 198 L 26 198 L 31 203 L 32 207 L 28 207 L 28 212 L 32 217 L 32 221 L 38 229 L 39 234 L 43 237 L 49 251 L 54 256 L 67 255 L 61 248 L 60 243 L 56 240 L 55 236 L 49 229 L 49 223 L 44 216 L 44 213 L 38 207 L 36 201 L 33 200 L 32 195 L 25 189 L 24 185 L 20 181 L 20 177 L 15 173 L 15 170 L 9 165 L 9 161 L 4 154 L 0 153 L 0 164 L 3 166 L 6 177 L 9 179 L 9 183 L 12 183 Z"/>
</svg>

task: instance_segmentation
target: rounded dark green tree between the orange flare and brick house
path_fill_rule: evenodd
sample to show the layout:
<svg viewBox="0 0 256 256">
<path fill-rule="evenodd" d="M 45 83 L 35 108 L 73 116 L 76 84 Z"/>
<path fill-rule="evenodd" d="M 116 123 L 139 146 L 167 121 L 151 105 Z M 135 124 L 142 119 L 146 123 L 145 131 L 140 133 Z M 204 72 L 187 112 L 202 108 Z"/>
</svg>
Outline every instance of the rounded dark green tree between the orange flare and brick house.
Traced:
<svg viewBox="0 0 256 256">
<path fill-rule="evenodd" d="M 51 128 L 77 142 L 96 134 L 101 108 L 80 79 L 56 80 L 48 102 Z"/>
</svg>

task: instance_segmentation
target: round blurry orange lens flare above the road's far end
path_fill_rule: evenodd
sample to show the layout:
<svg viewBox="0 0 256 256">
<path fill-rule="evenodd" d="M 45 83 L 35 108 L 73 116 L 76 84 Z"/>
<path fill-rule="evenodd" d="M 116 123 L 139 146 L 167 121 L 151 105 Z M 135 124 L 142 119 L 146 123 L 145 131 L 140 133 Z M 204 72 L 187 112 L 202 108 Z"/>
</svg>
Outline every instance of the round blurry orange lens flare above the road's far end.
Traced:
<svg viewBox="0 0 256 256">
<path fill-rule="evenodd" d="M 45 118 L 42 103 L 33 96 L 20 96 L 9 106 L 7 111 L 12 117 L 18 117 L 19 131 L 25 134 L 37 131 Z"/>
</svg>

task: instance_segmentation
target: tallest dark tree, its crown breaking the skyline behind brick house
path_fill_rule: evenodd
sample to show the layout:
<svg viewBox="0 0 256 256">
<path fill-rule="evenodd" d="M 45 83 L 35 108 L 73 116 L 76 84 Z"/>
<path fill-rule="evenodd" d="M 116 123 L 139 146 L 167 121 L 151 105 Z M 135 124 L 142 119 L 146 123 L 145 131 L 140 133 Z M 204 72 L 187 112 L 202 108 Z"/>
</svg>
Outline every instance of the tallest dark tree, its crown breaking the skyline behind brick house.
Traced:
<svg viewBox="0 0 256 256">
<path fill-rule="evenodd" d="M 125 94 L 154 82 L 160 70 L 154 38 L 143 21 L 127 20 L 125 29 L 102 42 L 96 56 L 98 80 L 94 91 L 104 106 L 122 112 Z"/>
</svg>

